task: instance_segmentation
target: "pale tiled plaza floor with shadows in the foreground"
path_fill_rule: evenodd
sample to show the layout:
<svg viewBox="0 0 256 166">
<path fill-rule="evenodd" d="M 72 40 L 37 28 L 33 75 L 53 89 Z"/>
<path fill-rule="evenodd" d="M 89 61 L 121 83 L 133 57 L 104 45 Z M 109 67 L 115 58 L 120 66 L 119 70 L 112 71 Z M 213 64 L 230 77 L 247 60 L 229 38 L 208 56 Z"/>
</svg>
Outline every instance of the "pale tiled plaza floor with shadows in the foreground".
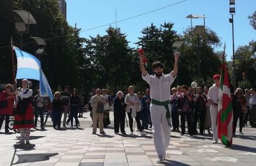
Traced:
<svg viewBox="0 0 256 166">
<path fill-rule="evenodd" d="M 113 128 L 105 129 L 106 135 L 92 135 L 88 124 L 82 121 L 76 130 L 56 131 L 50 126 L 43 132 L 34 130 L 31 144 L 23 146 L 15 145 L 18 133 L 0 133 L 0 165 L 157 165 L 150 130 L 145 137 L 138 132 L 129 135 L 129 128 L 124 137 L 115 135 Z M 173 132 L 163 165 L 256 165 L 255 140 L 256 129 L 249 127 L 234 138 L 232 147 L 211 144 L 209 135 Z"/>
</svg>

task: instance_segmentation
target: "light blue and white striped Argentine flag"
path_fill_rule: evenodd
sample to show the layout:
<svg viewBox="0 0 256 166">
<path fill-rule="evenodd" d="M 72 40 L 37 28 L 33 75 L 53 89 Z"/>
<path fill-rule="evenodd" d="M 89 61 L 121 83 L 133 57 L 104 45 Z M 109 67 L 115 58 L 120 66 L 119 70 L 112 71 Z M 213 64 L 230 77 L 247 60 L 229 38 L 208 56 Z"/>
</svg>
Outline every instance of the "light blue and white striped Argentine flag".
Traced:
<svg viewBox="0 0 256 166">
<path fill-rule="evenodd" d="M 28 52 L 24 52 L 17 47 L 13 47 L 17 57 L 16 79 L 33 79 L 40 81 L 40 95 L 53 99 L 51 87 L 41 68 L 41 62 Z"/>
</svg>

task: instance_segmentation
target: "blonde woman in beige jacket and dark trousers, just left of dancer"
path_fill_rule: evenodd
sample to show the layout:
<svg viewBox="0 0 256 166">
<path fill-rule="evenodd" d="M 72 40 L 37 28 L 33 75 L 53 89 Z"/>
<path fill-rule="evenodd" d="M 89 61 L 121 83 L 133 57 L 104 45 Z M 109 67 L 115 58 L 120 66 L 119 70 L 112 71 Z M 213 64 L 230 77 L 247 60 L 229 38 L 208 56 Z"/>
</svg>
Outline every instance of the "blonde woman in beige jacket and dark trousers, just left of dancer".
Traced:
<svg viewBox="0 0 256 166">
<path fill-rule="evenodd" d="M 125 96 L 124 100 L 125 104 L 127 105 L 125 111 L 129 117 L 129 126 L 131 129 L 131 135 L 133 135 L 133 118 L 136 117 L 136 105 L 139 103 L 139 98 L 136 93 L 134 93 L 134 87 L 128 87 L 128 94 Z"/>
</svg>

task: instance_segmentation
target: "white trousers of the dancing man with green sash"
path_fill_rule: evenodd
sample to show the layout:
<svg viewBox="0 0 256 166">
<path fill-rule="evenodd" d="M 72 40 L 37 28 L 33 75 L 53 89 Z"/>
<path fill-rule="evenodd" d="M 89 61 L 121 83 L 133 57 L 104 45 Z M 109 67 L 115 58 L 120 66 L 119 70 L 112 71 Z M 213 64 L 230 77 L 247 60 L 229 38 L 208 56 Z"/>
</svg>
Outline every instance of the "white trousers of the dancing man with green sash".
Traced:
<svg viewBox="0 0 256 166">
<path fill-rule="evenodd" d="M 170 105 L 168 105 L 171 111 Z M 170 144 L 170 126 L 166 119 L 166 109 L 161 105 L 150 104 L 150 114 L 152 119 L 152 132 L 154 144 L 158 156 L 165 156 L 166 149 Z M 171 114 L 171 112 L 170 112 Z"/>
</svg>

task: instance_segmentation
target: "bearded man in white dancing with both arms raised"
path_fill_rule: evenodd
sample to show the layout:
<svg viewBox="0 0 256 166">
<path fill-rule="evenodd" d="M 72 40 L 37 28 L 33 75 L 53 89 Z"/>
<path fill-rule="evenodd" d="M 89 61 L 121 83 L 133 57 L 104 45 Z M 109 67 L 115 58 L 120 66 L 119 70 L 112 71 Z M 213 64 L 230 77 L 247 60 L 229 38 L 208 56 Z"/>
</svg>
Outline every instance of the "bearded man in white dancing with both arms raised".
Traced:
<svg viewBox="0 0 256 166">
<path fill-rule="evenodd" d="M 157 151 L 157 163 L 163 163 L 166 149 L 170 144 L 170 87 L 178 72 L 179 53 L 175 53 L 174 69 L 170 74 L 163 74 L 163 63 L 156 61 L 152 64 L 155 75 L 149 75 L 140 56 L 142 78 L 150 85 L 150 114 L 152 118 L 152 132 Z"/>
</svg>

